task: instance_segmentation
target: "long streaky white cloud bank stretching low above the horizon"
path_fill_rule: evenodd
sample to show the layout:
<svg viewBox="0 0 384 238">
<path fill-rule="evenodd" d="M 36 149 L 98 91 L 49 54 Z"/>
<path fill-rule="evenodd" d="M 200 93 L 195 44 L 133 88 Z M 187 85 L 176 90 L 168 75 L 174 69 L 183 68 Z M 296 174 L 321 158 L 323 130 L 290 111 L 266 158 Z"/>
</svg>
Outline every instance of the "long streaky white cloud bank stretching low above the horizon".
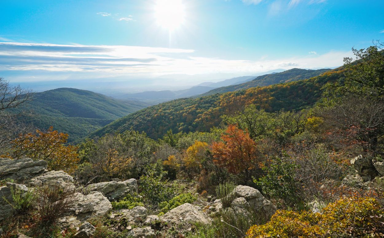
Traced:
<svg viewBox="0 0 384 238">
<path fill-rule="evenodd" d="M 163 75 L 236 73 L 250 75 L 277 68 L 324 68 L 343 64 L 348 51 L 331 51 L 323 55 L 307 55 L 268 60 L 230 60 L 195 56 L 194 50 L 105 45 L 54 45 L 0 42 L 0 71 L 56 72 L 74 77 L 76 74 Z"/>
</svg>

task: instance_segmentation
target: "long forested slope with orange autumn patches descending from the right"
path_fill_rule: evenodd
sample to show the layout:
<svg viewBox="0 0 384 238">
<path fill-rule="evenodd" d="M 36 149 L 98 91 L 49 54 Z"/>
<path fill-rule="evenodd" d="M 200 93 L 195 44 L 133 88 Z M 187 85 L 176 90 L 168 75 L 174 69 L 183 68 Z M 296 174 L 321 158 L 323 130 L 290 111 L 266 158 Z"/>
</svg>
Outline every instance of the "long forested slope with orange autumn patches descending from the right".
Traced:
<svg viewBox="0 0 384 238">
<path fill-rule="evenodd" d="M 301 70 L 301 72 L 317 74 L 320 71 Z M 281 109 L 300 110 L 312 106 L 319 100 L 324 84 L 342 77 L 343 71 L 335 69 L 310 79 L 289 83 L 217 93 L 199 98 L 176 99 L 122 117 L 89 137 L 103 136 L 116 131 L 123 132 L 131 127 L 146 132 L 153 139 L 162 137 L 169 129 L 174 133 L 209 131 L 210 128 L 220 124 L 220 116 L 233 114 L 251 103 L 268 112 Z"/>
</svg>

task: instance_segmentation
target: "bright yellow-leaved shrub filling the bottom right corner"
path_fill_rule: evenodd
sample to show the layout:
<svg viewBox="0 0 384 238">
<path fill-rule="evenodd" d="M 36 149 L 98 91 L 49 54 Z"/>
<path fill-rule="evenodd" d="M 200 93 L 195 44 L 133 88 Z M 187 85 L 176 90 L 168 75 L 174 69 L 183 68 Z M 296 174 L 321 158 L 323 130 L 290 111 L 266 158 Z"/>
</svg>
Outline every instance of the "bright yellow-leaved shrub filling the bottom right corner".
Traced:
<svg viewBox="0 0 384 238">
<path fill-rule="evenodd" d="M 252 226 L 247 238 L 382 237 L 384 217 L 374 198 L 341 198 L 323 214 L 279 210 L 264 225 Z"/>
</svg>

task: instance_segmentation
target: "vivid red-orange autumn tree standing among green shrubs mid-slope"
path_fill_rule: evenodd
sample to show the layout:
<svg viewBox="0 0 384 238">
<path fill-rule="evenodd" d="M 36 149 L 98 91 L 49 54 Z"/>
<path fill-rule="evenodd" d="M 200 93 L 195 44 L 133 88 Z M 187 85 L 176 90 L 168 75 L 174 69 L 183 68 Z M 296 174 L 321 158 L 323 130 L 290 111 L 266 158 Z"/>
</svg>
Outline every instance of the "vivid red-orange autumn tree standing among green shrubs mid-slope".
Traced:
<svg viewBox="0 0 384 238">
<path fill-rule="evenodd" d="M 214 163 L 225 167 L 232 174 L 243 173 L 246 178 L 249 170 L 257 164 L 258 150 L 249 133 L 229 125 L 221 136 L 222 142 L 212 144 Z"/>
</svg>

